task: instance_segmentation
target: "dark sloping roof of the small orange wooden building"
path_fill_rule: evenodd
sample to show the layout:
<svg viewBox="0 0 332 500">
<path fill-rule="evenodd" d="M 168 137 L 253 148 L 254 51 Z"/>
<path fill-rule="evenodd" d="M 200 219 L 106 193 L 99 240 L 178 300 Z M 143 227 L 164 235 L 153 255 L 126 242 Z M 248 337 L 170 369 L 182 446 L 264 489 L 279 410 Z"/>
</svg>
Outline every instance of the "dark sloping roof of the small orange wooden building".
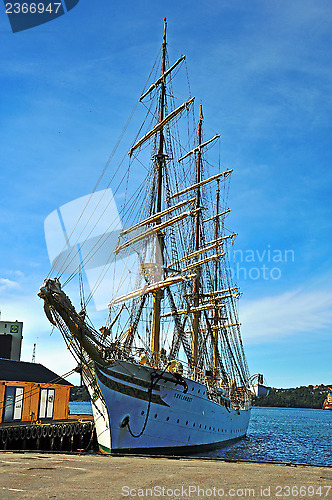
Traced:
<svg viewBox="0 0 332 500">
<path fill-rule="evenodd" d="M 27 363 L 11 359 L 0 359 L 0 381 L 72 385 L 40 363 Z"/>
</svg>

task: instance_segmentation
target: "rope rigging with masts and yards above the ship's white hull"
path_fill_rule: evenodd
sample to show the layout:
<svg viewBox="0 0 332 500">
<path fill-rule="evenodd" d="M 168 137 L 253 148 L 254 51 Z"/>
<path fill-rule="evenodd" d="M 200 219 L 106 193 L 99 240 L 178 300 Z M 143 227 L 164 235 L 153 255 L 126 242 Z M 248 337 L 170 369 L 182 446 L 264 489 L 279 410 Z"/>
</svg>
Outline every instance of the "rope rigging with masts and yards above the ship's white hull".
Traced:
<svg viewBox="0 0 332 500">
<path fill-rule="evenodd" d="M 166 51 L 166 38 L 164 43 Z M 163 62 L 166 61 L 169 68 L 167 51 L 164 55 Z M 186 63 L 184 66 L 188 79 Z M 223 216 L 227 208 L 229 172 L 215 175 L 212 170 L 214 177 L 218 177 L 218 186 L 219 181 L 222 186 L 221 197 L 224 195 L 222 206 L 216 211 L 216 180 L 209 178 L 209 170 L 216 167 L 207 160 L 207 153 L 213 147 L 211 141 L 216 137 L 205 144 L 200 128 L 202 112 L 199 122 L 196 122 L 193 106 L 188 101 L 183 109 L 178 107 L 172 83 L 181 67 L 183 62 L 179 63 L 174 74 L 159 78 L 158 85 L 163 92 L 160 88 L 150 92 L 153 86 L 148 87 L 148 82 L 152 76 L 158 82 L 160 76 L 160 64 L 154 64 L 143 88 L 142 95 L 147 94 L 142 100 L 145 116 L 131 143 L 128 166 L 123 168 L 128 153 L 126 148 L 124 155 L 120 154 L 122 158 L 107 184 L 106 190 L 117 180 L 116 188 L 112 189 L 113 196 L 105 198 L 105 190 L 98 203 L 92 205 L 93 195 L 122 142 L 139 101 L 66 239 L 63 250 L 69 242 L 70 247 L 58 270 L 58 278 L 68 273 L 63 283 L 66 286 L 78 275 L 80 313 L 76 312 L 65 294 L 61 295 L 62 290 L 55 293 L 48 289 L 40 296 L 44 298 L 46 310 L 61 331 L 67 347 L 86 367 L 89 367 L 91 359 L 107 365 L 130 356 L 140 359 L 138 355 L 142 359 L 146 356 L 150 360 L 149 366 L 155 368 L 165 360 L 168 364 L 169 360 L 183 360 L 189 367 L 186 373 L 190 377 L 212 372 L 215 386 L 222 379 L 224 384 L 233 380 L 244 387 L 249 372 L 240 335 L 236 298 L 235 294 L 227 293 L 234 286 L 227 240 L 233 236 L 230 231 L 228 235 Z M 164 70 L 162 73 L 165 73 Z M 175 116 L 178 108 L 181 109 Z M 169 118 L 168 122 L 165 117 Z M 184 131 L 180 130 L 180 121 L 186 122 Z M 198 131 L 197 123 L 200 124 Z M 178 163 L 182 156 L 185 161 Z M 121 167 L 123 170 L 120 170 Z M 189 200 L 184 198 L 188 191 L 193 196 Z M 123 203 L 116 213 L 110 215 L 109 208 L 115 199 Z M 185 205 L 188 208 L 184 209 Z M 94 231 L 99 226 L 103 227 L 103 233 L 95 236 Z M 116 236 L 113 234 L 115 231 Z M 81 241 L 83 236 L 84 241 Z M 89 281 L 90 289 L 86 294 L 84 285 L 89 276 L 87 270 L 84 274 L 84 269 L 89 269 L 88 265 L 92 267 L 98 260 L 101 246 L 105 249 L 103 262 L 93 268 L 94 277 Z M 79 264 L 76 265 L 77 255 Z M 56 262 L 48 277 L 55 268 Z M 49 280 L 50 286 L 55 280 L 51 282 Z M 107 300 L 110 301 L 108 319 L 102 327 L 103 331 L 97 331 L 90 321 L 87 306 L 105 282 Z M 153 344 L 151 340 L 156 339 L 156 331 L 158 342 Z M 169 347 L 169 354 L 163 353 L 162 359 L 165 346 Z M 155 380 L 152 383 L 151 379 L 148 409 L 141 433 L 134 435 L 129 419 L 124 422 L 133 437 L 142 435 L 146 428 Z"/>
</svg>

